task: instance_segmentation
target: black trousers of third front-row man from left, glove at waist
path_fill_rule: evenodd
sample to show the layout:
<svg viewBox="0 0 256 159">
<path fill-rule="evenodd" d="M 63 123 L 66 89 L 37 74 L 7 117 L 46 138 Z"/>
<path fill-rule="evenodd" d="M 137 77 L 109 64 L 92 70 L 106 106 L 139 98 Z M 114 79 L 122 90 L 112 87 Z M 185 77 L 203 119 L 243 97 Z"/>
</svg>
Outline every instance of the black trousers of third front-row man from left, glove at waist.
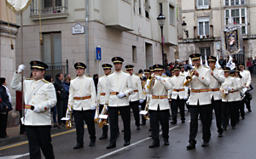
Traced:
<svg viewBox="0 0 256 159">
<path fill-rule="evenodd" d="M 119 136 L 119 112 L 124 124 L 124 139 L 131 140 L 131 107 L 127 106 L 108 106 L 109 125 L 110 125 L 110 143 L 115 144 Z"/>
</svg>

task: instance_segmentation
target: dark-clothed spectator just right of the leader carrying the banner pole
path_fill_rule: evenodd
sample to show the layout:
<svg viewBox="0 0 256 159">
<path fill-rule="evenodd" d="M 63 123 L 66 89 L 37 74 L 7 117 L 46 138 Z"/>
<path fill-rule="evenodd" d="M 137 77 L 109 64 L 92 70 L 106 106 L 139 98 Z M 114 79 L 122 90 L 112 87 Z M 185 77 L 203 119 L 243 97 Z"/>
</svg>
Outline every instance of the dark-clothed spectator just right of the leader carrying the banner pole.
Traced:
<svg viewBox="0 0 256 159">
<path fill-rule="evenodd" d="M 63 126 L 61 118 L 63 117 L 63 107 L 66 105 L 66 91 L 63 85 L 64 76 L 62 73 L 56 75 L 56 81 L 54 83 L 56 96 L 57 96 L 57 111 L 58 111 L 58 124 Z"/>
</svg>

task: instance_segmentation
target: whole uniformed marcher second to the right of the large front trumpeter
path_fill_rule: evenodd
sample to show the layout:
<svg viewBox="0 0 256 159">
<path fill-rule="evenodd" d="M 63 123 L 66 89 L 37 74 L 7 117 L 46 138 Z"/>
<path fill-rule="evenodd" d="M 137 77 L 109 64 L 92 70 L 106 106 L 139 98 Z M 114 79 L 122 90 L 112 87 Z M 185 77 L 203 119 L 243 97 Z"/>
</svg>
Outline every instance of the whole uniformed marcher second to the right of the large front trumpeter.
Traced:
<svg viewBox="0 0 256 159">
<path fill-rule="evenodd" d="M 238 105 L 236 103 L 236 92 L 238 92 L 238 85 L 234 77 L 230 77 L 230 67 L 224 66 L 224 78 L 225 82 L 220 87 L 220 92 L 223 94 L 223 114 L 224 114 L 224 130 L 227 129 L 227 125 L 230 120 L 230 125 L 233 129 L 236 128 L 236 110 Z M 229 117 L 230 116 L 230 117 Z M 229 119 L 230 118 L 230 119 Z"/>
</svg>

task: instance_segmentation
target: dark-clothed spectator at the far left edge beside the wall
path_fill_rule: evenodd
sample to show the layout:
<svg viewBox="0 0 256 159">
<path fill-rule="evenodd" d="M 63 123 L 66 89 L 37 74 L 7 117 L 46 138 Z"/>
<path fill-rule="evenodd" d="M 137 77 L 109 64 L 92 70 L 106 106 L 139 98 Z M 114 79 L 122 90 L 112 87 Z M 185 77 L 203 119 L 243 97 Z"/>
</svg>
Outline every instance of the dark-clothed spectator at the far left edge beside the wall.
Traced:
<svg viewBox="0 0 256 159">
<path fill-rule="evenodd" d="M 13 110 L 12 105 L 9 102 L 9 95 L 6 89 L 6 79 L 0 78 L 0 98 L 2 99 L 1 104 L 3 105 L 3 110 L 0 112 L 0 138 L 8 138 L 6 133 L 8 112 Z"/>
</svg>

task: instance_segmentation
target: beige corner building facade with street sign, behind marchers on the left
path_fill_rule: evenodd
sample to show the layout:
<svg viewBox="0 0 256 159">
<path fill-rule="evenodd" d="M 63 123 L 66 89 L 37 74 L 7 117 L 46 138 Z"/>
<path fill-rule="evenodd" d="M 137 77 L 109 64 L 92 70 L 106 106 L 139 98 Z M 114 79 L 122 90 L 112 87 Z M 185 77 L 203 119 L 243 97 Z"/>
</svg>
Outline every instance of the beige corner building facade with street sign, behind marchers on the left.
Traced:
<svg viewBox="0 0 256 159">
<path fill-rule="evenodd" d="M 174 59 L 177 45 L 175 0 L 33 0 L 23 14 L 24 63 L 43 60 L 50 74 L 58 71 L 75 76 L 73 64 L 83 61 L 87 73 L 102 75 L 103 63 L 113 56 L 135 65 L 135 71 L 162 63 L 161 31 L 157 17 L 166 16 L 163 28 L 164 53 Z M 41 29 L 39 26 L 39 12 Z M 20 17 L 17 17 L 17 21 Z M 40 30 L 44 44 L 40 44 Z M 17 41 L 20 42 L 20 31 Z M 101 48 L 101 60 L 96 60 Z M 16 65 L 20 65 L 20 46 L 16 48 Z M 29 71 L 26 71 L 29 72 Z M 55 72 L 55 73 L 53 73 Z M 27 73 L 26 76 L 29 76 Z"/>
</svg>

